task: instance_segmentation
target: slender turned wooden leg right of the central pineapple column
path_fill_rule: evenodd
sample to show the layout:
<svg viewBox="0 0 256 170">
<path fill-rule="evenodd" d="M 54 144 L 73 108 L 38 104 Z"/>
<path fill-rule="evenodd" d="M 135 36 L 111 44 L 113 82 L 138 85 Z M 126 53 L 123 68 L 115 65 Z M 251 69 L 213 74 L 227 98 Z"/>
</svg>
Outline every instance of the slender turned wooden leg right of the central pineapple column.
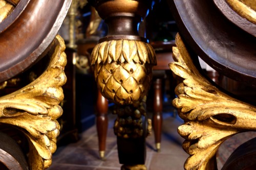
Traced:
<svg viewBox="0 0 256 170">
<path fill-rule="evenodd" d="M 153 106 L 153 128 L 155 133 L 156 149 L 160 151 L 161 134 L 162 134 L 162 111 L 163 111 L 163 99 L 162 99 L 162 80 L 156 79 L 154 81 L 154 106 Z"/>
</svg>

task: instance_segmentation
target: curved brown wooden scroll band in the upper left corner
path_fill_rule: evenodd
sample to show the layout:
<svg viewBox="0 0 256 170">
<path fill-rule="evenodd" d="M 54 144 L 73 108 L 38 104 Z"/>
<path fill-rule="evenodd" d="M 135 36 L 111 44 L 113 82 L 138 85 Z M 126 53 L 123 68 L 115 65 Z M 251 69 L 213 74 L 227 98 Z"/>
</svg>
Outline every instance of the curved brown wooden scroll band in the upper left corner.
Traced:
<svg viewBox="0 0 256 170">
<path fill-rule="evenodd" d="M 0 33 L 0 82 L 19 74 L 42 57 L 70 4 L 71 0 L 30 0 L 8 29 Z"/>
</svg>

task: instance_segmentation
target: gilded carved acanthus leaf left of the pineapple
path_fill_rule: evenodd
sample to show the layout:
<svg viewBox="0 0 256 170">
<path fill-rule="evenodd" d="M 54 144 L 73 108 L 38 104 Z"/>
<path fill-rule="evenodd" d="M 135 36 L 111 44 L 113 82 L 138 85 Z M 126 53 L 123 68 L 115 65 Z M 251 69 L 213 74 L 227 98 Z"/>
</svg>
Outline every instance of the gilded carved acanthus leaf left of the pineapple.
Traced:
<svg viewBox="0 0 256 170">
<path fill-rule="evenodd" d="M 49 52 L 47 70 L 35 81 L 0 98 L 0 123 L 18 127 L 29 141 L 30 169 L 46 169 L 51 165 L 59 135 L 57 118 L 62 114 L 61 86 L 66 83 L 65 43 L 56 36 Z"/>
</svg>

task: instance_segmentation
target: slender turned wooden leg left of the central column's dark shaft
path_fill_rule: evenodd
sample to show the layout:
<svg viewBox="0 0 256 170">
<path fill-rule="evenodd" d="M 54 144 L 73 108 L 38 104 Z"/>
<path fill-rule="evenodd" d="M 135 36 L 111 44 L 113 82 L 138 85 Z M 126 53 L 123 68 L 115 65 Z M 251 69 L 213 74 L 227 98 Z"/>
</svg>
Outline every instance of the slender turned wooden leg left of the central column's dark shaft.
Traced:
<svg viewBox="0 0 256 170">
<path fill-rule="evenodd" d="M 99 141 L 99 155 L 105 159 L 106 133 L 108 131 L 108 100 L 98 91 L 96 126 Z"/>
</svg>

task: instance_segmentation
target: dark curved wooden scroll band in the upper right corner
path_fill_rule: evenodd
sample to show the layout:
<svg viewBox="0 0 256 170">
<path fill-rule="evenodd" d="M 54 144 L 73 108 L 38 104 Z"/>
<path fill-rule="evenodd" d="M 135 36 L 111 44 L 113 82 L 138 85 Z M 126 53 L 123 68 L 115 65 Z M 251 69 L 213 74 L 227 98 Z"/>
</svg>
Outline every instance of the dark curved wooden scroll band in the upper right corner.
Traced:
<svg viewBox="0 0 256 170">
<path fill-rule="evenodd" d="M 212 1 L 169 0 L 180 33 L 221 74 L 256 85 L 256 38 L 243 32 Z"/>
</svg>

